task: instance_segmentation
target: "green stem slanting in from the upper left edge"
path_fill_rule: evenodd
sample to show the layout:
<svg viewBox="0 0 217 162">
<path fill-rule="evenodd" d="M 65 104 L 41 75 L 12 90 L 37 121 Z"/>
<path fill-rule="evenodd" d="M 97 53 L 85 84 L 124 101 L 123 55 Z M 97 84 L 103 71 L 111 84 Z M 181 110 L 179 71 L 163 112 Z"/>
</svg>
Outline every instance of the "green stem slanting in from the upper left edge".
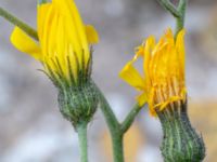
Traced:
<svg viewBox="0 0 217 162">
<path fill-rule="evenodd" d="M 16 16 L 12 15 L 0 6 L 0 16 L 12 23 L 13 25 L 20 27 L 22 30 L 24 30 L 28 36 L 34 38 L 35 40 L 38 40 L 38 33 L 35 29 L 33 29 L 27 24 L 23 23 L 21 19 L 18 19 Z"/>
</svg>

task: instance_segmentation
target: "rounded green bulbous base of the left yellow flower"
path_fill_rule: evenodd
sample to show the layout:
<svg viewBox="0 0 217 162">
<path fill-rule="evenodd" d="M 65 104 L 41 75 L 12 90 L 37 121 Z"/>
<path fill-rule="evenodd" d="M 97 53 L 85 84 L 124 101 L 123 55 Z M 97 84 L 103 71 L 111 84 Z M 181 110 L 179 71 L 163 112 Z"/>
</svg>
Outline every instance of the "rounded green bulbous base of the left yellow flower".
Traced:
<svg viewBox="0 0 217 162">
<path fill-rule="evenodd" d="M 91 81 L 82 86 L 60 89 L 58 100 L 60 111 L 75 127 L 91 121 L 98 107 L 98 95 Z"/>
</svg>

